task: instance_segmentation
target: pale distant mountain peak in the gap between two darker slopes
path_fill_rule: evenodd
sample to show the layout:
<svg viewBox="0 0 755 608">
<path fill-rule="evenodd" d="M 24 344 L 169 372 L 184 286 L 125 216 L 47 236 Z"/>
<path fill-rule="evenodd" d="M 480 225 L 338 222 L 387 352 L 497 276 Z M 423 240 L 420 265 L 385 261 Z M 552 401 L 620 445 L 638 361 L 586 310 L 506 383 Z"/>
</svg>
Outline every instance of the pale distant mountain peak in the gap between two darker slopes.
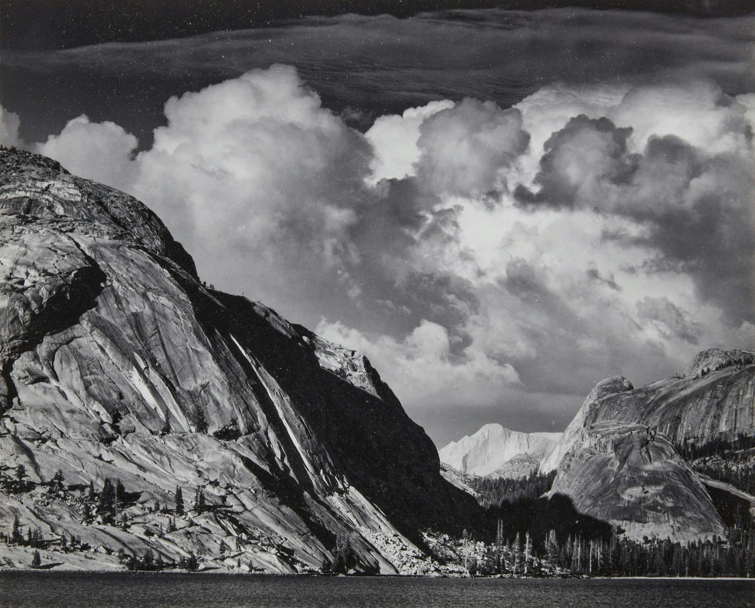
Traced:
<svg viewBox="0 0 755 608">
<path fill-rule="evenodd" d="M 452 441 L 438 453 L 442 462 L 462 473 L 522 477 L 537 471 L 541 458 L 553 450 L 560 437 L 560 433 L 520 433 L 501 424 L 485 424 L 471 437 Z M 516 466 L 504 466 L 513 458 Z"/>
</svg>

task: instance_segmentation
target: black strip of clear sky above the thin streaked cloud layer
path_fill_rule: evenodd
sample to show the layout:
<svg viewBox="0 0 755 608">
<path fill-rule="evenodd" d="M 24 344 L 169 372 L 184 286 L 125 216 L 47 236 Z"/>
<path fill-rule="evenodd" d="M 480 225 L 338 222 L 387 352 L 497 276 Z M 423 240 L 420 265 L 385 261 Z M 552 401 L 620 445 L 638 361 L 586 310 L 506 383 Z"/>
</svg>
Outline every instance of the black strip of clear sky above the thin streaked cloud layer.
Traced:
<svg viewBox="0 0 755 608">
<path fill-rule="evenodd" d="M 51 50 L 100 42 L 143 42 L 265 26 L 307 15 L 393 14 L 455 8 L 582 7 L 731 17 L 751 0 L 5 0 L 0 48 Z"/>
</svg>

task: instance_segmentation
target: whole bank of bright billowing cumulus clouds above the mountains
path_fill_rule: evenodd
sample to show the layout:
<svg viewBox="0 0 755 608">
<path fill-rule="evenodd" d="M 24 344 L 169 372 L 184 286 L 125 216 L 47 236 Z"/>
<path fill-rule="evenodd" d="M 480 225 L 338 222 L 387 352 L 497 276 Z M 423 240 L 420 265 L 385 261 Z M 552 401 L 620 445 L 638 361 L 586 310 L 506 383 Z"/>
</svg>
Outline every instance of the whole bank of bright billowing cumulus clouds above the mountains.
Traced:
<svg viewBox="0 0 755 608">
<path fill-rule="evenodd" d="M 39 150 L 143 199 L 208 280 L 364 351 L 448 437 L 433 412 L 544 423 L 606 376 L 755 346 L 753 100 L 549 85 L 362 134 L 272 66 L 171 97 L 136 156 L 86 117 Z"/>
</svg>

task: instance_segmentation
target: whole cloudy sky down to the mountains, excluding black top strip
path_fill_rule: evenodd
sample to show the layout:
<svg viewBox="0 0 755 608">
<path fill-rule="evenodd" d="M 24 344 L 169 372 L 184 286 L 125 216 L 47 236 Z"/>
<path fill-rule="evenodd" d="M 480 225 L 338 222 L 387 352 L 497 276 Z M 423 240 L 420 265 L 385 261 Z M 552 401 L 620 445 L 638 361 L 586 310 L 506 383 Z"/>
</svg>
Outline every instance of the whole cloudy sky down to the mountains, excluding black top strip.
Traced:
<svg viewBox="0 0 755 608">
<path fill-rule="evenodd" d="M 4 6 L 0 140 L 134 194 L 207 282 L 364 352 L 438 445 L 562 430 L 602 378 L 755 347 L 755 17 L 477 8 L 115 42 L 239 5 L 148 28 L 151 5 L 45 5 Z M 60 49 L 85 39 L 108 42 Z"/>
</svg>

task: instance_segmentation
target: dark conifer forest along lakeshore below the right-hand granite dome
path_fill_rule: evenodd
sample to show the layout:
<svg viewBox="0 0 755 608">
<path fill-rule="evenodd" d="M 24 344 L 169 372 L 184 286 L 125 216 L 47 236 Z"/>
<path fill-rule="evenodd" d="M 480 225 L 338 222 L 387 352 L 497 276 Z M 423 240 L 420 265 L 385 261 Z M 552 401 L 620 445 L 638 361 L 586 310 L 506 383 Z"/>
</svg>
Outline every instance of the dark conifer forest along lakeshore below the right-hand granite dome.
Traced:
<svg viewBox="0 0 755 608">
<path fill-rule="evenodd" d="M 715 446 L 688 444 L 688 454 L 749 449 L 753 438 L 740 436 Z M 637 541 L 605 521 L 580 514 L 565 495 L 541 498 L 554 473 L 519 480 L 472 477 L 485 516 L 473 536 L 485 546 L 467 563 L 477 574 L 527 576 L 755 576 L 755 522 L 749 505 L 728 492 L 710 489 L 726 523 L 726 534 L 696 542 L 670 539 Z M 477 551 L 479 554 L 479 551 Z M 467 559 L 467 561 L 469 561 Z"/>
</svg>

